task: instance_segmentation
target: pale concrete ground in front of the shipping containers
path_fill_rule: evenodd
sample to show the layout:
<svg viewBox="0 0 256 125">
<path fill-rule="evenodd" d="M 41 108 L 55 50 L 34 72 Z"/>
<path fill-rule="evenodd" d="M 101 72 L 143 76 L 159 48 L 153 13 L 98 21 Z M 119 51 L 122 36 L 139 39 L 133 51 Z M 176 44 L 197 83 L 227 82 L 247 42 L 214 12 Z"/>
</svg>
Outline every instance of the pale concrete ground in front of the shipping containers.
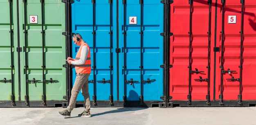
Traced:
<svg viewBox="0 0 256 125">
<path fill-rule="evenodd" d="M 62 107 L 0 108 L 0 125 L 256 125 L 256 107 L 94 107 L 92 117 L 58 114 Z"/>
</svg>

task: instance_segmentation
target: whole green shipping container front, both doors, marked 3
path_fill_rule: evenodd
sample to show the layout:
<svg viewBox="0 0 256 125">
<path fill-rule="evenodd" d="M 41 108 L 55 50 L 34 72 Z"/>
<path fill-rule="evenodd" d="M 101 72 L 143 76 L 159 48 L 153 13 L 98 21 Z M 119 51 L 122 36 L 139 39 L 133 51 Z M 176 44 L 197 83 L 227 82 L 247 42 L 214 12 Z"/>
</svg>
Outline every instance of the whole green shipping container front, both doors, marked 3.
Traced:
<svg viewBox="0 0 256 125">
<path fill-rule="evenodd" d="M 0 107 L 67 106 L 65 9 L 60 0 L 0 0 Z"/>
</svg>

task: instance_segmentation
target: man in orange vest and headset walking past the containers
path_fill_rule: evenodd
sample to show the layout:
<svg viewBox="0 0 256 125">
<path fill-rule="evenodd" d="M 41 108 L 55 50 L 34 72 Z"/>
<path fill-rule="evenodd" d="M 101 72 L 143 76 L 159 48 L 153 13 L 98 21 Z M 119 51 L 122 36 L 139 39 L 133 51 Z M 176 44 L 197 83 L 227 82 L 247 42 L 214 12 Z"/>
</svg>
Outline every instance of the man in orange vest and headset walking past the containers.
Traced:
<svg viewBox="0 0 256 125">
<path fill-rule="evenodd" d="M 90 96 L 88 92 L 88 77 L 91 72 L 91 58 L 90 58 L 90 47 L 83 40 L 79 33 L 73 35 L 74 44 L 80 46 L 77 51 L 76 58 L 67 58 L 67 63 L 70 65 L 75 65 L 76 69 L 76 79 L 71 90 L 71 97 L 67 109 L 62 112 L 58 112 L 61 116 L 70 117 L 71 111 L 76 105 L 76 98 L 81 90 L 85 101 L 85 110 L 78 116 L 90 117 Z"/>
</svg>

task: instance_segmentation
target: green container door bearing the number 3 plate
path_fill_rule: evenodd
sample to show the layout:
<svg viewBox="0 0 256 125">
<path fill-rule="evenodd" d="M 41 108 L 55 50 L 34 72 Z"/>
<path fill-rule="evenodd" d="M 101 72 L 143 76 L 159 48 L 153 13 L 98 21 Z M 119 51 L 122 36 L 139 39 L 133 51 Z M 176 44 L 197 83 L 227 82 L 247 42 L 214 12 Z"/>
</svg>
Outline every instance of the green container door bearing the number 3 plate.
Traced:
<svg viewBox="0 0 256 125">
<path fill-rule="evenodd" d="M 25 0 L 26 1 L 26 0 Z M 44 0 L 41 0 L 44 1 Z M 58 1 L 19 2 L 21 100 L 64 100 L 65 3 Z"/>
</svg>

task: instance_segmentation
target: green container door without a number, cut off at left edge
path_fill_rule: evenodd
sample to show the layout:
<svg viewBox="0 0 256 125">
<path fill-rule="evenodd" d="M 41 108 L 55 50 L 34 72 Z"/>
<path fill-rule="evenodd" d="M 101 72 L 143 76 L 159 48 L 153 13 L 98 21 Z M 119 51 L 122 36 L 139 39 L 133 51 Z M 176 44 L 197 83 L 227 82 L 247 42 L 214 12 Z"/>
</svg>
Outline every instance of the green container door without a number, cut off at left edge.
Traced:
<svg viewBox="0 0 256 125">
<path fill-rule="evenodd" d="M 11 95 L 14 94 L 12 5 L 12 2 L 9 3 L 7 0 L 0 2 L 0 11 L 2 12 L 0 14 L 0 37 L 2 38 L 0 42 L 0 58 L 2 58 L 0 65 L 0 100 L 11 100 Z"/>
</svg>

